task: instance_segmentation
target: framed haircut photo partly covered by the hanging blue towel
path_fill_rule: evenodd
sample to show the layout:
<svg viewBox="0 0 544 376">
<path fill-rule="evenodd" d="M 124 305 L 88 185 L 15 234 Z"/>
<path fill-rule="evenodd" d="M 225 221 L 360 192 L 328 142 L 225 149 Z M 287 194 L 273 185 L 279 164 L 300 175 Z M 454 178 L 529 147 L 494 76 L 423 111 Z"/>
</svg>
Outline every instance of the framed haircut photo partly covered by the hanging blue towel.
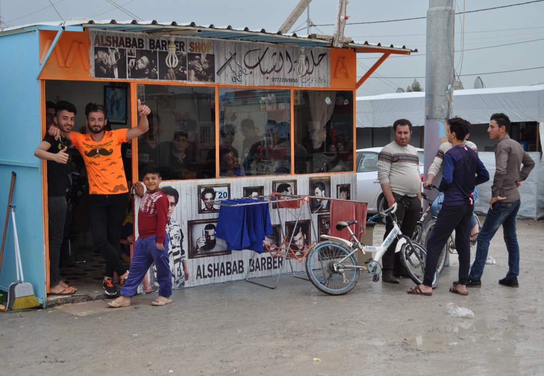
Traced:
<svg viewBox="0 0 544 376">
<path fill-rule="evenodd" d="M 217 218 L 187 222 L 189 233 L 189 259 L 230 255 L 224 240 L 215 237 Z"/>
</svg>

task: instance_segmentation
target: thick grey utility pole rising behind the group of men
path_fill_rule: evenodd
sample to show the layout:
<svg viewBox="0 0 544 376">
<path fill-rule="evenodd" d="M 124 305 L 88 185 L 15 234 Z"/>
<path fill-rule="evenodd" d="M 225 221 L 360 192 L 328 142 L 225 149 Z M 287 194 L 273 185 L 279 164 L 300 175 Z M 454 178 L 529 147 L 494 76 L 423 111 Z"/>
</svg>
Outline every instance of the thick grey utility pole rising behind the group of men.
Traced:
<svg viewBox="0 0 544 376">
<path fill-rule="evenodd" d="M 429 0 L 425 61 L 425 164 L 426 179 L 438 147 L 446 139 L 446 120 L 453 109 L 454 25 L 453 0 Z M 433 184 L 440 183 L 440 176 Z M 430 192 L 429 192 L 430 193 Z"/>
</svg>

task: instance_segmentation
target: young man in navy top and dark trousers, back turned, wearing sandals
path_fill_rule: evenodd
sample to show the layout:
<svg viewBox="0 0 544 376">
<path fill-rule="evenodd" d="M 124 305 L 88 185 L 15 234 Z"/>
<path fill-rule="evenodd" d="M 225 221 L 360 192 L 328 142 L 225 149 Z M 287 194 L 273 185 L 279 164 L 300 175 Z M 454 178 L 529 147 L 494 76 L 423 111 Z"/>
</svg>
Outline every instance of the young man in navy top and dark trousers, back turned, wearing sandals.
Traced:
<svg viewBox="0 0 544 376">
<path fill-rule="evenodd" d="M 474 211 L 472 192 L 475 185 L 489 180 L 489 173 L 478 158 L 478 154 L 464 145 L 465 136 L 471 127 L 471 123 L 460 117 L 448 120 L 446 136 L 453 147 L 444 154 L 442 181 L 438 187 L 438 190 L 444 192 L 442 210 L 427 242 L 423 284 L 409 289 L 407 291 L 409 294 L 432 295 L 431 286 L 438 258 L 453 230 L 455 249 L 459 254 L 459 284 L 449 291 L 461 295 L 468 294 L 466 283 L 470 268 L 470 231 Z"/>
</svg>

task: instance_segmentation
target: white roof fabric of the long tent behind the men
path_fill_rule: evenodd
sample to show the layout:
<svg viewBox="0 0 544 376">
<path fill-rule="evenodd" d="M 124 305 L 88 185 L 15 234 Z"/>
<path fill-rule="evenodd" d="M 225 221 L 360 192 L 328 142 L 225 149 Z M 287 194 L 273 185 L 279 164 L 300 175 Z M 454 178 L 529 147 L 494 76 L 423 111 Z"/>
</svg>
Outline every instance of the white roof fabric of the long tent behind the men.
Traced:
<svg viewBox="0 0 544 376">
<path fill-rule="evenodd" d="M 456 90 L 452 116 L 485 124 L 494 112 L 504 112 L 513 122 L 544 122 L 544 85 Z M 395 120 L 425 124 L 425 92 L 357 97 L 357 127 L 391 127 Z"/>
</svg>

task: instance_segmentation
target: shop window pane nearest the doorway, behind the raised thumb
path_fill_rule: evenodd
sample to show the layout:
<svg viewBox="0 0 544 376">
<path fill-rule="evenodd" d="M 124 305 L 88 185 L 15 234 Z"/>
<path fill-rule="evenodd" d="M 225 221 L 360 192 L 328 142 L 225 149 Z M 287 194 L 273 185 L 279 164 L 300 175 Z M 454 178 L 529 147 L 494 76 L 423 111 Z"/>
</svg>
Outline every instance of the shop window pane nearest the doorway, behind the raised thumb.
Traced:
<svg viewBox="0 0 544 376">
<path fill-rule="evenodd" d="M 138 137 L 139 170 L 157 165 L 163 180 L 215 177 L 214 88 L 138 85 L 138 98 L 152 111 Z"/>
</svg>

